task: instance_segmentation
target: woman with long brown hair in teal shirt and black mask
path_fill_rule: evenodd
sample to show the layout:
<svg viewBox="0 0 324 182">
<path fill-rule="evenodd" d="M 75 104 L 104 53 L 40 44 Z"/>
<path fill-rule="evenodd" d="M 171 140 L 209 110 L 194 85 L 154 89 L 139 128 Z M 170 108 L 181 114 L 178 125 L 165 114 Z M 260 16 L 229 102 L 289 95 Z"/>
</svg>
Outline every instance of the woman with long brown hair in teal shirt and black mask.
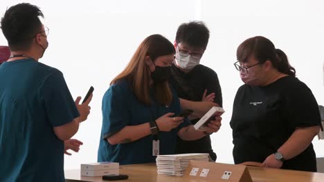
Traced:
<svg viewBox="0 0 324 182">
<path fill-rule="evenodd" d="M 111 81 L 102 99 L 98 161 L 152 163 L 158 154 L 174 154 L 177 135 L 195 140 L 219 130 L 220 117 L 205 132 L 175 117 L 180 112 L 179 98 L 168 83 L 174 53 L 168 39 L 153 34 Z"/>
</svg>

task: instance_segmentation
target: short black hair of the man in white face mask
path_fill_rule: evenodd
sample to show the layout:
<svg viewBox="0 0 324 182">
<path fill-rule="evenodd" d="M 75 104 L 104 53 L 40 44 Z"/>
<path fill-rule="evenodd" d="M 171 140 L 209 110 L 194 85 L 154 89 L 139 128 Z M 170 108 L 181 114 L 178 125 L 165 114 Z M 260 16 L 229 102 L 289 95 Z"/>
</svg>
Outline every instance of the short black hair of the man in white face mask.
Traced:
<svg viewBox="0 0 324 182">
<path fill-rule="evenodd" d="M 182 23 L 177 30 L 177 43 L 186 43 L 195 48 L 206 48 L 208 39 L 209 30 L 203 21 Z"/>
</svg>

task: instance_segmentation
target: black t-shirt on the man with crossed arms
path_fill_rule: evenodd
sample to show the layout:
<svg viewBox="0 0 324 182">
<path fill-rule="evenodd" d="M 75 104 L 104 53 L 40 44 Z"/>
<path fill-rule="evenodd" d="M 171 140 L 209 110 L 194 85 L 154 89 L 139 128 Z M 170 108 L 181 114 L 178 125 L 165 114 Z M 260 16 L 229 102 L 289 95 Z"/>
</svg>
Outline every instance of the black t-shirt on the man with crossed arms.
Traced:
<svg viewBox="0 0 324 182">
<path fill-rule="evenodd" d="M 190 101 L 201 101 L 205 89 L 207 95 L 215 93 L 215 103 L 222 105 L 222 90 L 219 85 L 217 74 L 214 70 L 204 66 L 197 65 L 188 73 L 182 72 L 176 65 L 172 64 L 172 77 L 170 84 L 177 91 L 179 98 Z M 195 124 L 199 119 L 192 120 Z M 210 136 L 204 136 L 196 141 L 183 141 L 177 139 L 177 153 L 209 153 L 210 157 L 215 161 L 216 154 L 211 147 Z"/>
</svg>

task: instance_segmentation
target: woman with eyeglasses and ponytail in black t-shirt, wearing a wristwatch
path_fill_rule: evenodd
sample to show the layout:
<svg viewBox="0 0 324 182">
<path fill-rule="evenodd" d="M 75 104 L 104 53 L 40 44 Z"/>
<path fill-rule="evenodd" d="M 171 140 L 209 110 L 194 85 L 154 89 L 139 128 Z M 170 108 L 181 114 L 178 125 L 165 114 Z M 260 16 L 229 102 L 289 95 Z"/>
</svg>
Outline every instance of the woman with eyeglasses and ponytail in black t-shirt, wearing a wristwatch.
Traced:
<svg viewBox="0 0 324 182">
<path fill-rule="evenodd" d="M 262 167 L 316 172 L 312 140 L 321 119 L 312 91 L 282 50 L 265 37 L 237 48 L 235 68 L 245 83 L 233 104 L 233 158 Z"/>
</svg>

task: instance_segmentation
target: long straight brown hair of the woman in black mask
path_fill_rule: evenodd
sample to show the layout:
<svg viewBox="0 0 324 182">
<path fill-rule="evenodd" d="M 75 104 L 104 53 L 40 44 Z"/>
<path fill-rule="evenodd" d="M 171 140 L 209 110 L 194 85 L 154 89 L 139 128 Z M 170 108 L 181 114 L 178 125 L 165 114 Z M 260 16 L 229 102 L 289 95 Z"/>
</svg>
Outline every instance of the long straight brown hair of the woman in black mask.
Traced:
<svg viewBox="0 0 324 182">
<path fill-rule="evenodd" d="M 111 81 L 110 85 L 127 79 L 136 98 L 142 103 L 150 105 L 152 103 L 150 97 L 151 71 L 145 64 L 145 57 L 149 56 L 152 61 L 155 61 L 157 57 L 174 53 L 174 46 L 168 39 L 161 34 L 152 34 L 138 46 L 126 68 Z M 170 105 L 172 91 L 168 81 L 153 84 L 153 97 L 162 105 Z"/>
</svg>

